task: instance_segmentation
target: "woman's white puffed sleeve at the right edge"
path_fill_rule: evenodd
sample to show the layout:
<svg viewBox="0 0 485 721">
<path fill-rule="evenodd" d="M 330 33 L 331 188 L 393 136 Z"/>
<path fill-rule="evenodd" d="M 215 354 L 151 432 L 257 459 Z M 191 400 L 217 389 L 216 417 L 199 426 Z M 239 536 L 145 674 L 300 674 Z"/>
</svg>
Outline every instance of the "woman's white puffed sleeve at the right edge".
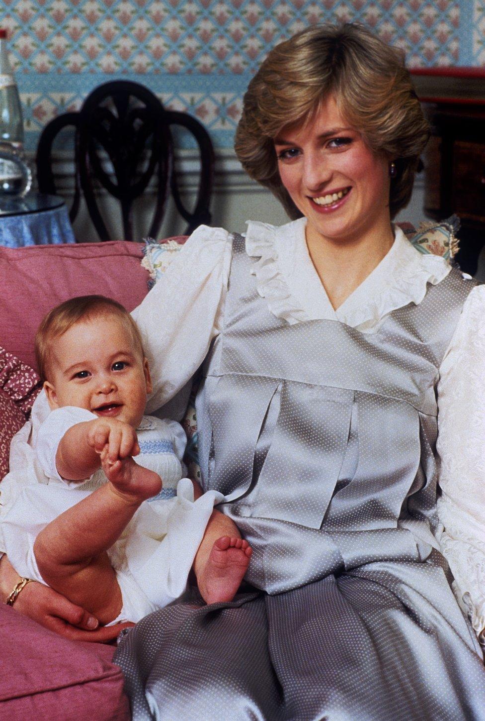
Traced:
<svg viewBox="0 0 485 721">
<path fill-rule="evenodd" d="M 441 457 L 438 539 L 455 593 L 484 642 L 485 628 L 485 286 L 471 291 L 438 384 Z"/>
</svg>

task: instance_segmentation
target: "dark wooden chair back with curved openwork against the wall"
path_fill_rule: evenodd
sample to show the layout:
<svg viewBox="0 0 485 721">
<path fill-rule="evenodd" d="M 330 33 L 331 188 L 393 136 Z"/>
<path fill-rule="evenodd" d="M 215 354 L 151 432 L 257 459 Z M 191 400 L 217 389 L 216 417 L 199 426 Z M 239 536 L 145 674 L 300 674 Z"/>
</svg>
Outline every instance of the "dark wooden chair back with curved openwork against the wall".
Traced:
<svg viewBox="0 0 485 721">
<path fill-rule="evenodd" d="M 109 240 L 99 204 L 99 190 L 104 188 L 119 201 L 124 239 L 132 240 L 133 204 L 155 180 L 155 210 L 145 234 L 158 235 L 170 192 L 178 212 L 188 223 L 186 233 L 201 223 L 210 223 L 214 149 L 198 120 L 183 112 L 166 110 L 148 88 L 138 83 L 119 80 L 101 85 L 86 97 L 78 113 L 60 115 L 42 132 L 37 147 L 41 192 L 55 192 L 53 141 L 66 125 L 74 126 L 76 138 L 76 190 L 71 221 L 76 217 L 82 193 L 99 238 Z M 199 146 L 199 187 L 193 211 L 183 203 L 174 169 L 171 128 L 175 125 L 189 131 Z"/>
</svg>

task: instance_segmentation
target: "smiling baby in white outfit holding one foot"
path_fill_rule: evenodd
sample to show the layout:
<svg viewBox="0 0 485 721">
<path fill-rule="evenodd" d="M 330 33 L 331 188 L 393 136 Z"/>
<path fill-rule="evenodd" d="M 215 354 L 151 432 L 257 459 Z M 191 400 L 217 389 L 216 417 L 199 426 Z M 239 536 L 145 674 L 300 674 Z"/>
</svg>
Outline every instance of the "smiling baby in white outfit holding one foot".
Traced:
<svg viewBox="0 0 485 721">
<path fill-rule="evenodd" d="M 183 429 L 143 415 L 150 370 L 130 314 L 103 296 L 73 298 L 42 321 L 36 353 L 51 412 L 32 480 L 17 496 L 2 482 L 3 549 L 17 572 L 102 624 L 177 598 L 192 565 L 207 603 L 231 601 L 251 549 L 213 510 L 219 493 L 181 479 L 163 497 L 160 474 L 173 487 L 182 475 Z"/>
</svg>

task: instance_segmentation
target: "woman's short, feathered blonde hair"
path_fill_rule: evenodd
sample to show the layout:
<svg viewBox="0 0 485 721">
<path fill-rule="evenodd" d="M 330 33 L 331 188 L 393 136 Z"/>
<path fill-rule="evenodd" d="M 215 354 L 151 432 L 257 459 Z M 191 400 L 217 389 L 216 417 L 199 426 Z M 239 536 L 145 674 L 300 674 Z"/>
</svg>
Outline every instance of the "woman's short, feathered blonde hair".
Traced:
<svg viewBox="0 0 485 721">
<path fill-rule="evenodd" d="M 281 184 L 273 138 L 290 125 L 311 122 L 330 94 L 368 147 L 395 162 L 389 196 L 394 218 L 409 203 L 430 128 L 404 53 L 362 25 L 316 25 L 271 50 L 244 97 L 237 157 L 250 177 L 281 200 L 291 218 L 301 216 Z"/>
</svg>

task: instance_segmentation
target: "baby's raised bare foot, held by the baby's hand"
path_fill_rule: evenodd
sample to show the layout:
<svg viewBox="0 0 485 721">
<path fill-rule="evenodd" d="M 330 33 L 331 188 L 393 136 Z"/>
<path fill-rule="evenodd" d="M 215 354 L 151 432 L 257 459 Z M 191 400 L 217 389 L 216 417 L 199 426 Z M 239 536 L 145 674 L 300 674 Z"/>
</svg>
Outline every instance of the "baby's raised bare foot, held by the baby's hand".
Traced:
<svg viewBox="0 0 485 721">
<path fill-rule="evenodd" d="M 101 466 L 114 492 L 130 502 L 141 502 L 151 498 L 162 488 L 158 473 L 140 466 L 132 456 L 111 463 L 101 454 Z"/>
</svg>

